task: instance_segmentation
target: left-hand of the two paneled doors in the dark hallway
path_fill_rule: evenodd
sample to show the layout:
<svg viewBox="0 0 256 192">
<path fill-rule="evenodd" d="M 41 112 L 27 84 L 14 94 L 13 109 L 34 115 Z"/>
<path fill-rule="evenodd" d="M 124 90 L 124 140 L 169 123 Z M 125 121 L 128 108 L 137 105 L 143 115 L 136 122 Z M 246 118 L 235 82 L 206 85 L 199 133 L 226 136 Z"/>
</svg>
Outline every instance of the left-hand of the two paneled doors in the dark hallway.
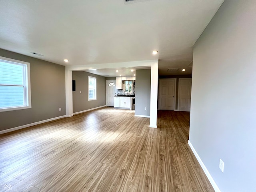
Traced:
<svg viewBox="0 0 256 192">
<path fill-rule="evenodd" d="M 174 110 L 176 79 L 159 79 L 158 109 Z"/>
</svg>

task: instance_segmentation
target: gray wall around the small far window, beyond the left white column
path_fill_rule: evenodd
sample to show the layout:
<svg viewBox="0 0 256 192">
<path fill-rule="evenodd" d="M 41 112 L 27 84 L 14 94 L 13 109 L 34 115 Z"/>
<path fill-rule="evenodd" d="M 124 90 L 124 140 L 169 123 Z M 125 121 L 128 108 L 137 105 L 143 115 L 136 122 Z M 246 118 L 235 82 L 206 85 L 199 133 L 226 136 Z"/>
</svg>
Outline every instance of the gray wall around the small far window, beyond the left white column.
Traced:
<svg viewBox="0 0 256 192">
<path fill-rule="evenodd" d="M 88 101 L 88 76 L 97 78 L 97 100 Z M 106 77 L 73 71 L 73 80 L 76 80 L 76 91 L 73 91 L 74 113 L 106 105 Z"/>
</svg>

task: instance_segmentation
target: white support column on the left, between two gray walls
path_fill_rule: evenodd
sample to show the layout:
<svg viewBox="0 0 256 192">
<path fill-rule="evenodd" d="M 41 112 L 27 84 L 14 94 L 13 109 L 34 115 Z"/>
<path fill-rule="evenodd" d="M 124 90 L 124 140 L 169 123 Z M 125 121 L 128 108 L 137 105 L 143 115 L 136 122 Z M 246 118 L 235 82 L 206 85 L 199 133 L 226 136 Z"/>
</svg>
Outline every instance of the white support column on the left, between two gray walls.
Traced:
<svg viewBox="0 0 256 192">
<path fill-rule="evenodd" d="M 73 116 L 73 93 L 72 93 L 72 70 L 66 68 L 65 75 L 66 87 L 66 116 Z"/>
</svg>

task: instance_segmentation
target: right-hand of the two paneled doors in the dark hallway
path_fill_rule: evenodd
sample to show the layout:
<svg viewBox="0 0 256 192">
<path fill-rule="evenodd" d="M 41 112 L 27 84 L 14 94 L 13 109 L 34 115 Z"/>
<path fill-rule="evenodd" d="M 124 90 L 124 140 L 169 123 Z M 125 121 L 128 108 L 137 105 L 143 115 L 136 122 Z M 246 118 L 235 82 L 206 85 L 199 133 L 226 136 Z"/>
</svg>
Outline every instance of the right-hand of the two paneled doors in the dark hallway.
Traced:
<svg viewBox="0 0 256 192">
<path fill-rule="evenodd" d="M 190 111 L 192 78 L 179 79 L 179 110 Z"/>
</svg>

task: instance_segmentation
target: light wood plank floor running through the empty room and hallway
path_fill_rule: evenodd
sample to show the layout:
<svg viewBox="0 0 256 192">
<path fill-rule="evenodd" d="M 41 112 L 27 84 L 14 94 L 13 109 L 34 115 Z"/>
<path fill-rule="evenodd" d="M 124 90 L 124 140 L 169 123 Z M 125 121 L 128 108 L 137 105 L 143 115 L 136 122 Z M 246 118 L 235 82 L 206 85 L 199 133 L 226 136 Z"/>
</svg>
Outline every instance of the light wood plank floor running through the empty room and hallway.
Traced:
<svg viewBox="0 0 256 192">
<path fill-rule="evenodd" d="M 189 112 L 158 128 L 111 107 L 0 135 L 0 191 L 214 192 L 188 146 Z"/>
</svg>

